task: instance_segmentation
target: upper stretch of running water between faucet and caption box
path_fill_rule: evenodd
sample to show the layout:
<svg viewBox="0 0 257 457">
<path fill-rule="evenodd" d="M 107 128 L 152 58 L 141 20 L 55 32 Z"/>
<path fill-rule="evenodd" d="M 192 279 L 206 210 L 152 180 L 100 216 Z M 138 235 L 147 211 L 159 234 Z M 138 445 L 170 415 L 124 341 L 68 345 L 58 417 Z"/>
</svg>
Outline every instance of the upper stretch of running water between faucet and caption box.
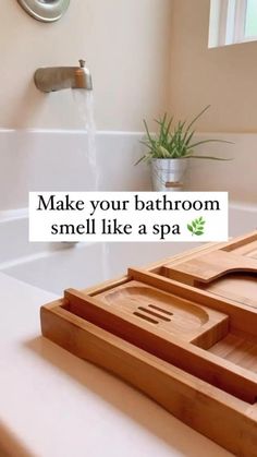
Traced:
<svg viewBox="0 0 257 457">
<path fill-rule="evenodd" d="M 96 149 L 96 123 L 94 117 L 94 93 L 93 91 L 72 91 L 74 101 L 78 108 L 79 116 L 83 120 L 84 128 L 87 134 L 87 142 L 85 154 L 88 158 L 88 166 L 93 179 L 90 191 L 99 191 L 99 166 L 97 164 L 97 149 Z"/>
</svg>

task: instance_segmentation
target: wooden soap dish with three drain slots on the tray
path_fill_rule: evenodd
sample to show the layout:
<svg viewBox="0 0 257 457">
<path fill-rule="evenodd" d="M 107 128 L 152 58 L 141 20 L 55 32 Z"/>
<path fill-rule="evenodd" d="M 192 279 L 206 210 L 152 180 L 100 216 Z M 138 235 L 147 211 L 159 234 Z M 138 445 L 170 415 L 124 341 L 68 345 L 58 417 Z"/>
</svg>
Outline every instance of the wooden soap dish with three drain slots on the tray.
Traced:
<svg viewBox="0 0 257 457">
<path fill-rule="evenodd" d="M 208 349 L 228 333 L 227 315 L 144 282 L 131 280 L 97 298 L 139 327 L 154 324 L 152 330 L 163 338 L 170 335 Z"/>
</svg>

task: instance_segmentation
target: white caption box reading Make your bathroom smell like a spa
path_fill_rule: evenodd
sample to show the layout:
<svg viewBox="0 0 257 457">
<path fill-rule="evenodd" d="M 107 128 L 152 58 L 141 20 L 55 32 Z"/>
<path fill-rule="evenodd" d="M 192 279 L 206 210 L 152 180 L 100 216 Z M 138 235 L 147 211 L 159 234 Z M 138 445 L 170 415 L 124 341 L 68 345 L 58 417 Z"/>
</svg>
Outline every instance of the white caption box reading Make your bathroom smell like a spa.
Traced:
<svg viewBox="0 0 257 457">
<path fill-rule="evenodd" d="M 228 193 L 30 192 L 29 240 L 227 241 Z"/>
</svg>

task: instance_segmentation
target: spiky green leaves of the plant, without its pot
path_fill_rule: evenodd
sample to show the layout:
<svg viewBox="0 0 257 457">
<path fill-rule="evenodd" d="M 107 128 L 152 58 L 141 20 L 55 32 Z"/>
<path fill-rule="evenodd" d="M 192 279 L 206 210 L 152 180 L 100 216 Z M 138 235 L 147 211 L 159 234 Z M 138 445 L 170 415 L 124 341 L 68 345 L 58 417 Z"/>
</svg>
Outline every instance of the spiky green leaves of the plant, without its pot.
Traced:
<svg viewBox="0 0 257 457">
<path fill-rule="evenodd" d="M 213 156 L 196 156 L 194 155 L 194 148 L 206 143 L 230 143 L 224 140 L 201 140 L 194 142 L 195 130 L 193 127 L 195 122 L 203 116 L 207 109 L 210 108 L 208 105 L 203 111 L 197 115 L 192 122 L 187 124 L 186 121 L 179 121 L 173 128 L 173 117 L 168 118 L 166 113 L 162 118 L 156 119 L 155 122 L 159 127 L 159 131 L 156 134 L 151 134 L 147 122 L 144 120 L 146 129 L 146 140 L 142 143 L 148 148 L 148 152 L 136 161 L 135 165 L 142 160 L 151 160 L 155 158 L 197 158 L 197 159 L 210 159 L 210 160 L 230 160 Z"/>
</svg>

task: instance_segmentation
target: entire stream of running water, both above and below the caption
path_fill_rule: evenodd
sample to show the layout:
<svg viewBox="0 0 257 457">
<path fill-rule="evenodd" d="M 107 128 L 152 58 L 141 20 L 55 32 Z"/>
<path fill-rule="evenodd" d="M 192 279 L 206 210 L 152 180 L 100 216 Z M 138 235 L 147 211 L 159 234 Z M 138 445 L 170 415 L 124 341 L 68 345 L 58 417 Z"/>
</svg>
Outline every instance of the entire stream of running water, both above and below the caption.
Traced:
<svg viewBox="0 0 257 457">
<path fill-rule="evenodd" d="M 79 116 L 83 120 L 85 131 L 87 133 L 87 142 L 85 145 L 85 154 L 88 158 L 88 166 L 93 179 L 90 191 L 99 191 L 100 172 L 99 164 L 97 164 L 96 148 L 96 123 L 94 117 L 94 93 L 93 91 L 73 89 L 74 101 L 77 106 Z M 110 246 L 109 243 L 101 243 L 101 270 L 102 280 L 110 279 Z"/>
</svg>

